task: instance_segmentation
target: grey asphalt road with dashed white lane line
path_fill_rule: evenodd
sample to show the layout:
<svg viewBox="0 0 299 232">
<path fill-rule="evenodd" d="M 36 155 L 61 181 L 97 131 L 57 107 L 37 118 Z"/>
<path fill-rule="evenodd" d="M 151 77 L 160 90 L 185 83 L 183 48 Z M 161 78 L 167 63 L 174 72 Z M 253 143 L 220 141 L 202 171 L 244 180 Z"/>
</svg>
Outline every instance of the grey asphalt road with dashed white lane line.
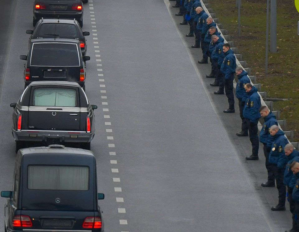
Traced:
<svg viewBox="0 0 299 232">
<path fill-rule="evenodd" d="M 11 102 L 24 87 L 32 29 L 31 1 L 2 3 L 0 190 L 12 188 L 15 143 Z M 12 7 L 13 6 L 13 7 Z M 169 11 L 168 11 L 169 9 Z M 272 212 L 276 188 L 263 189 L 263 157 L 245 161 L 238 114 L 224 115 L 190 50 L 187 26 L 162 0 L 84 4 L 88 53 L 86 93 L 99 107 L 91 150 L 97 157 L 105 231 L 282 231 L 290 212 Z M 9 26 L 7 26 L 9 25 Z M 6 61 L 6 62 L 5 62 Z M 0 199 L 0 207 L 5 199 Z M 4 218 L 0 215 L 0 228 Z"/>
</svg>

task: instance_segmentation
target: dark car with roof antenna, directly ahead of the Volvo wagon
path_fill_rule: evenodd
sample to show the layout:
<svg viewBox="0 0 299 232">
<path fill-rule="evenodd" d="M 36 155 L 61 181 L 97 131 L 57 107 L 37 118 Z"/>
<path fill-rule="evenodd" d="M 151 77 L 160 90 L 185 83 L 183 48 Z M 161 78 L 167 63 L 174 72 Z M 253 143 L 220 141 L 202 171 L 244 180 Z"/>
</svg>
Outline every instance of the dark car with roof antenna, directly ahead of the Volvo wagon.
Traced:
<svg viewBox="0 0 299 232">
<path fill-rule="evenodd" d="M 83 56 L 87 51 L 84 36 L 89 35 L 89 32 L 82 31 L 78 21 L 75 19 L 40 19 L 34 30 L 26 30 L 26 33 L 31 34 L 28 47 L 30 47 L 31 39 L 77 39 L 79 40 Z"/>
</svg>

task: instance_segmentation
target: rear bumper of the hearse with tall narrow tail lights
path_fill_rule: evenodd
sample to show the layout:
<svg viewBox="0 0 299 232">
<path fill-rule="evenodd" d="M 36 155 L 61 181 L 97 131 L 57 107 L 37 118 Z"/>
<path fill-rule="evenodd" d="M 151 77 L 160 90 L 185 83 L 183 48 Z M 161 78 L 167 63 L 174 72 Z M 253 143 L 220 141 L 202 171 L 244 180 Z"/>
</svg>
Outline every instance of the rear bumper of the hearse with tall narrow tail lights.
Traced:
<svg viewBox="0 0 299 232">
<path fill-rule="evenodd" d="M 91 142 L 94 132 L 85 131 L 44 131 L 44 130 L 22 130 L 12 129 L 12 136 L 17 141 L 31 142 Z"/>
</svg>

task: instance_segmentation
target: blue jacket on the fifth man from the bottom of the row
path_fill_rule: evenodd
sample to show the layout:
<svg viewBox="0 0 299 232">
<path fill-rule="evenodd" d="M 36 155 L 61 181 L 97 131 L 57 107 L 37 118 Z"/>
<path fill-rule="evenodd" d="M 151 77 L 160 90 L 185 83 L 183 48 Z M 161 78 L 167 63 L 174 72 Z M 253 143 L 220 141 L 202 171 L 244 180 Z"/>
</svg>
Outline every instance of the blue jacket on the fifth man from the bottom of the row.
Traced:
<svg viewBox="0 0 299 232">
<path fill-rule="evenodd" d="M 246 93 L 247 99 L 243 109 L 244 118 L 248 118 L 252 123 L 257 123 L 261 117 L 261 114 L 259 113 L 259 108 L 261 108 L 261 99 L 257 91 L 258 89 L 252 86 L 252 89 Z"/>
</svg>

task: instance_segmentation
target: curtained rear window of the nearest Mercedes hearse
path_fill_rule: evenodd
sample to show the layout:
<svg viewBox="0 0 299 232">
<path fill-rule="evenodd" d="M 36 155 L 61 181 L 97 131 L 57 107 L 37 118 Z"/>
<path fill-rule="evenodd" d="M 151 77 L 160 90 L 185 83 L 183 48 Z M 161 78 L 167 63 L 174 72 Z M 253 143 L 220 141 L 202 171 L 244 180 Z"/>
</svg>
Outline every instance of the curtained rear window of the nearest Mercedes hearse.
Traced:
<svg viewBox="0 0 299 232">
<path fill-rule="evenodd" d="M 89 167 L 71 165 L 28 165 L 28 189 L 77 190 L 89 189 Z"/>
</svg>

